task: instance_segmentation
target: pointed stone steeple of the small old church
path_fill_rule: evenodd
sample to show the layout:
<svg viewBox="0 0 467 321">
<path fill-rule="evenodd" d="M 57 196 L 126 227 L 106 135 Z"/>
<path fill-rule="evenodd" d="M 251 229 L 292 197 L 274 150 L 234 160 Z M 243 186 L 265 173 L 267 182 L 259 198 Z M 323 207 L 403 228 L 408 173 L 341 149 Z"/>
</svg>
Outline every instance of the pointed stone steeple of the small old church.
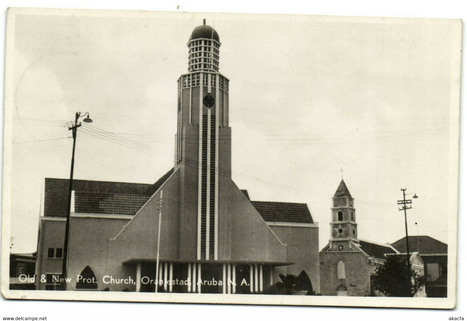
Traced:
<svg viewBox="0 0 467 321">
<path fill-rule="evenodd" d="M 351 241 L 359 242 L 357 223 L 355 222 L 354 198 L 350 195 L 344 180 L 340 181 L 333 197 L 331 207 L 331 243 L 332 251 L 348 251 Z"/>
</svg>

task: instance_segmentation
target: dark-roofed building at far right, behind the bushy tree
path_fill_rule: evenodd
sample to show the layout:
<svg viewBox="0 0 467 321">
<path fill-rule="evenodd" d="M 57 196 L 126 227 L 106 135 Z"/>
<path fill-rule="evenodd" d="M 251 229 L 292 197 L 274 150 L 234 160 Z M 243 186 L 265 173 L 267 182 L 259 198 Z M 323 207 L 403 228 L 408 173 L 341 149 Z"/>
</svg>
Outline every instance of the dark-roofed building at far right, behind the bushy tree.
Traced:
<svg viewBox="0 0 467 321">
<path fill-rule="evenodd" d="M 407 253 L 405 237 L 392 243 Z M 420 253 L 425 264 L 425 292 L 429 298 L 447 297 L 447 244 L 430 236 L 409 236 L 409 253 Z"/>
</svg>

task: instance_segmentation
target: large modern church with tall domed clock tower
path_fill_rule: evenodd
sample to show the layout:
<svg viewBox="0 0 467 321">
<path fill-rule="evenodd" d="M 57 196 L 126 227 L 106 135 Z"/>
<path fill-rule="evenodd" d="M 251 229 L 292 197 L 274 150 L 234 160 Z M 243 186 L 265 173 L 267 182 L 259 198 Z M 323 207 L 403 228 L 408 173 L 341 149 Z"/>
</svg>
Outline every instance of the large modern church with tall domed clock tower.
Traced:
<svg viewBox="0 0 467 321">
<path fill-rule="evenodd" d="M 206 25 L 188 41 L 172 169 L 154 184 L 73 181 L 65 286 L 56 276 L 69 181 L 45 179 L 37 289 L 263 293 L 280 273 L 305 271 L 319 293 L 318 223 L 307 205 L 251 201 L 231 178 L 229 79 L 219 73 L 220 45 Z"/>
</svg>

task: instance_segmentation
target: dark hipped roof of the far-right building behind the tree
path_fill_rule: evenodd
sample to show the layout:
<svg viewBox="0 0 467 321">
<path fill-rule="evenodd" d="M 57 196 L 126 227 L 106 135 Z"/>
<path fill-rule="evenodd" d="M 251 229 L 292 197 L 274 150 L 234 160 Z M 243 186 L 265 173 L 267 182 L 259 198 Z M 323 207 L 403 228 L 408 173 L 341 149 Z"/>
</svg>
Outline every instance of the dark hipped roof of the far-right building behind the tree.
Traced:
<svg viewBox="0 0 467 321">
<path fill-rule="evenodd" d="M 418 242 L 417 242 L 418 238 Z M 391 244 L 400 253 L 407 252 L 405 237 Z M 447 244 L 427 235 L 409 236 L 409 253 L 423 254 L 447 254 Z"/>
</svg>

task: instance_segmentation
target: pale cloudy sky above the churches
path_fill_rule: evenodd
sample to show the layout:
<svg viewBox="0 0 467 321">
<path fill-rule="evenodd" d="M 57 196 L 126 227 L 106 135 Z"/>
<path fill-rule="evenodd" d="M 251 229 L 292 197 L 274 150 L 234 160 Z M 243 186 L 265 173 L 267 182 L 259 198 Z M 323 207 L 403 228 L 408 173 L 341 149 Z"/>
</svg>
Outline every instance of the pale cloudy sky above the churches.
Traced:
<svg viewBox="0 0 467 321">
<path fill-rule="evenodd" d="M 230 79 L 233 180 L 252 200 L 307 203 L 321 249 L 342 177 L 359 237 L 380 243 L 405 236 L 407 188 L 409 235 L 448 241 L 452 21 L 94 12 L 15 18 L 12 252 L 35 251 L 44 178 L 69 178 L 75 112 L 122 138 L 78 129 L 74 178 L 152 184 L 173 166 L 177 79 L 203 18 Z"/>
</svg>

